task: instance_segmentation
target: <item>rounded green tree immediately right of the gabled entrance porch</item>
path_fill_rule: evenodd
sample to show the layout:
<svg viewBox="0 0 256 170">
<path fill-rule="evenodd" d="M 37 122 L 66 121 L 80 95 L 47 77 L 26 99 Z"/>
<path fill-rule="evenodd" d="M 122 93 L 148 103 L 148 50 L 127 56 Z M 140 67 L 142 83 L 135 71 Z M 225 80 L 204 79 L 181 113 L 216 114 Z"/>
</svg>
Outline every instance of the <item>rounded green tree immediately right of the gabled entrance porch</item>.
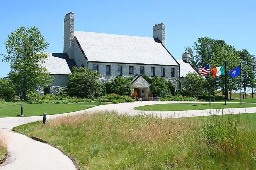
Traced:
<svg viewBox="0 0 256 170">
<path fill-rule="evenodd" d="M 168 85 L 164 78 L 158 76 L 153 77 L 150 85 L 150 90 L 154 96 L 162 97 L 168 93 Z"/>
</svg>

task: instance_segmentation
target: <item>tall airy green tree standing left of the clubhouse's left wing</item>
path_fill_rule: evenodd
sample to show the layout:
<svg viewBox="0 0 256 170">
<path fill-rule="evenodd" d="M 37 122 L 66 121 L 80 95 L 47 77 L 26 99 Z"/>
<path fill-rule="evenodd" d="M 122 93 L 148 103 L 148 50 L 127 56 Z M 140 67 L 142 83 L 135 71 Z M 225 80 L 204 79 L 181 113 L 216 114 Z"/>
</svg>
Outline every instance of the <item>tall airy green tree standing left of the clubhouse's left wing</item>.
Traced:
<svg viewBox="0 0 256 170">
<path fill-rule="evenodd" d="M 10 64 L 9 78 L 18 89 L 24 92 L 24 100 L 27 99 L 28 90 L 53 82 L 54 77 L 40 65 L 45 63 L 48 57 L 44 52 L 49 43 L 45 42 L 42 33 L 36 27 L 22 26 L 11 32 L 5 45 L 7 55 L 2 54 L 4 56 L 2 61 Z"/>
</svg>

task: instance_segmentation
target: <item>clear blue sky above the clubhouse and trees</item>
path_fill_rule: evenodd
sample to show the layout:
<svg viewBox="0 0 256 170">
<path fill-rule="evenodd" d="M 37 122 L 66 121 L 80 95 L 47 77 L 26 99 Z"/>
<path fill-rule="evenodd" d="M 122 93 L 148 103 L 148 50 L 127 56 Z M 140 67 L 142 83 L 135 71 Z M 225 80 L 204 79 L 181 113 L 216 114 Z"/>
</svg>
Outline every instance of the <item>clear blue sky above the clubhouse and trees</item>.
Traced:
<svg viewBox="0 0 256 170">
<path fill-rule="evenodd" d="M 181 59 L 184 47 L 198 37 L 222 39 L 237 50 L 256 55 L 256 1 L 3 1 L 0 54 L 7 35 L 24 25 L 38 27 L 50 43 L 47 52 L 62 53 L 64 16 L 72 11 L 75 30 L 152 37 L 153 25 L 163 22 L 166 47 Z M 10 66 L 0 61 L 0 77 Z"/>
</svg>

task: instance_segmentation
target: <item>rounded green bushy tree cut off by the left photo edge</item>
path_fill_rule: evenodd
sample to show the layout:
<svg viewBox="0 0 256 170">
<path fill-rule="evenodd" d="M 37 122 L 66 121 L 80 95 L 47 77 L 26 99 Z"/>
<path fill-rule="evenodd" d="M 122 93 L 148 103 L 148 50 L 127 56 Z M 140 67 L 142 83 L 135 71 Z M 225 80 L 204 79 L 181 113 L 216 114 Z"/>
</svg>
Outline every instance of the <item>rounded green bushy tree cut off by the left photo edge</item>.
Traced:
<svg viewBox="0 0 256 170">
<path fill-rule="evenodd" d="M 15 88 L 12 82 L 6 78 L 0 79 L 0 97 L 5 99 L 13 98 L 15 94 Z"/>
</svg>

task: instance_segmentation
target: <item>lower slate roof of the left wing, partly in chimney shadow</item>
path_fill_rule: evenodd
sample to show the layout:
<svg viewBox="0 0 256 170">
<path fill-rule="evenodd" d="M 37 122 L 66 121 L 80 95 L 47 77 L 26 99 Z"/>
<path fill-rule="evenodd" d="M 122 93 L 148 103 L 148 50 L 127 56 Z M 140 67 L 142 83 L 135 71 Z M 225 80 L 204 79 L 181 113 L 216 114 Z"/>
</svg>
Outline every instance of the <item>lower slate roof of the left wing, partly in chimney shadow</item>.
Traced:
<svg viewBox="0 0 256 170">
<path fill-rule="evenodd" d="M 41 63 L 42 64 L 42 63 Z M 72 66 L 76 66 L 74 59 L 69 59 L 64 53 L 49 53 L 45 66 L 51 74 L 70 75 Z"/>
</svg>

